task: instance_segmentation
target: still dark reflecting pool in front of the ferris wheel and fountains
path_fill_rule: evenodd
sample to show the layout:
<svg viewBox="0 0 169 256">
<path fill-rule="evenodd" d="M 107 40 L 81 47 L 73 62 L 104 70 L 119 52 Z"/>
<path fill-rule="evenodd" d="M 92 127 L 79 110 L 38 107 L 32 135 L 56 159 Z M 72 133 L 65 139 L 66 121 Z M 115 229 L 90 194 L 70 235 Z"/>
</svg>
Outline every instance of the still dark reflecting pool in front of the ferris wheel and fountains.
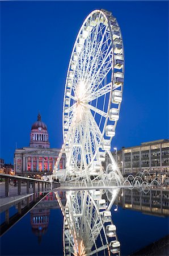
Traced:
<svg viewBox="0 0 169 256">
<path fill-rule="evenodd" d="M 1 209 L 1 255 L 130 255 L 168 234 L 168 198 L 163 189 L 31 195 Z"/>
</svg>

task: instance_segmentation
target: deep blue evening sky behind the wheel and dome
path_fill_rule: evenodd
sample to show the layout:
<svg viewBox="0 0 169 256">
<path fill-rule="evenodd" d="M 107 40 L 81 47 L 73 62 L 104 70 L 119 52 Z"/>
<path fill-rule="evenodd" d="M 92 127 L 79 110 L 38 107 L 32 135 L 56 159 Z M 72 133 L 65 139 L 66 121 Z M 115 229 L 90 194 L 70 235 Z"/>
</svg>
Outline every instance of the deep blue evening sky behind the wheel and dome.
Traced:
<svg viewBox="0 0 169 256">
<path fill-rule="evenodd" d="M 78 30 L 112 11 L 125 49 L 125 84 L 112 147 L 168 138 L 168 2 L 1 2 L 1 158 L 29 145 L 38 110 L 50 147 L 62 144 L 66 72 Z"/>
</svg>

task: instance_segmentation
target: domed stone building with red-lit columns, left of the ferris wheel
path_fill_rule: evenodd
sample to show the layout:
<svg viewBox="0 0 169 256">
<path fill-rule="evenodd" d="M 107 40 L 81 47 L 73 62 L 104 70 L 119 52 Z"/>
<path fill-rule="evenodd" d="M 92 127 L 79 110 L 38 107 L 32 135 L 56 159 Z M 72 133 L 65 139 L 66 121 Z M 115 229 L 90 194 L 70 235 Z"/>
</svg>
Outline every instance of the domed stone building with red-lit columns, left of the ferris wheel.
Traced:
<svg viewBox="0 0 169 256">
<path fill-rule="evenodd" d="M 17 148 L 14 153 L 15 175 L 40 177 L 50 175 L 54 169 L 60 148 L 50 148 L 47 125 L 41 121 L 40 113 L 33 123 L 29 147 Z M 60 169 L 64 169 L 66 156 L 62 155 Z"/>
</svg>

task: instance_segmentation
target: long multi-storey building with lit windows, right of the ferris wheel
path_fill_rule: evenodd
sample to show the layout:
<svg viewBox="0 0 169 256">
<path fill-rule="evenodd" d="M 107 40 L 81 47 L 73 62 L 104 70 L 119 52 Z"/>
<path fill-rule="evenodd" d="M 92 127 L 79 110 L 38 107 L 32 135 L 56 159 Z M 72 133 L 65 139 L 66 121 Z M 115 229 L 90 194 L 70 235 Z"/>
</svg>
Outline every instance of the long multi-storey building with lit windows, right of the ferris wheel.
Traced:
<svg viewBox="0 0 169 256">
<path fill-rule="evenodd" d="M 169 139 L 143 142 L 112 152 L 123 175 L 147 170 L 150 174 L 169 174 Z M 109 160 L 107 159 L 108 164 Z"/>
</svg>

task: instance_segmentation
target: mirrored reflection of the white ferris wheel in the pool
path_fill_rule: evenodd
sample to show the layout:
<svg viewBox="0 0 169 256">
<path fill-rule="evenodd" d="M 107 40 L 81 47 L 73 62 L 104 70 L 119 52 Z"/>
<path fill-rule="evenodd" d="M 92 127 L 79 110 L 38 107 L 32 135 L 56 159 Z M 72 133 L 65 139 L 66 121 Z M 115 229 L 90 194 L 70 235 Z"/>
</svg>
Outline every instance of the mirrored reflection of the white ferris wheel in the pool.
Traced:
<svg viewBox="0 0 169 256">
<path fill-rule="evenodd" d="M 66 192 L 66 205 L 56 198 L 64 215 L 64 255 L 120 255 L 120 242 L 111 207 L 119 189 L 106 199 L 103 190 Z"/>
</svg>

